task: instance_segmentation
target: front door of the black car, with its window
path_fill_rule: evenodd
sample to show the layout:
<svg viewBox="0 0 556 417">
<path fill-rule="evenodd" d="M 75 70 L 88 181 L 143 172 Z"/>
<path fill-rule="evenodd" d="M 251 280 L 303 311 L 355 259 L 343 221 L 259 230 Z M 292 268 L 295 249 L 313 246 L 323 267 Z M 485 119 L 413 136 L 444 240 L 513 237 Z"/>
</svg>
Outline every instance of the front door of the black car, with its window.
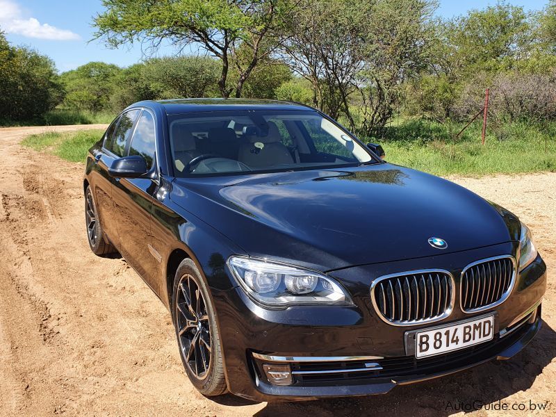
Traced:
<svg viewBox="0 0 556 417">
<path fill-rule="evenodd" d="M 149 174 L 142 178 L 115 178 L 113 182 L 114 219 L 120 252 L 155 291 L 160 255 L 150 246 L 152 202 L 158 190 L 155 117 L 143 110 L 133 128 L 126 154 L 140 155 L 147 161 Z"/>
</svg>

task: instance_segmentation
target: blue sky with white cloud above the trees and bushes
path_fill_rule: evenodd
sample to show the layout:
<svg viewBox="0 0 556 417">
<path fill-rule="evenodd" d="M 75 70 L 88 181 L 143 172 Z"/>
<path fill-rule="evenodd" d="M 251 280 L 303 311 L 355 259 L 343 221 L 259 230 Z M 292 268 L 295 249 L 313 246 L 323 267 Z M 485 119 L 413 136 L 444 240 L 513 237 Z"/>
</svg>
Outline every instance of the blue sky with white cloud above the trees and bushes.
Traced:
<svg viewBox="0 0 556 417">
<path fill-rule="evenodd" d="M 510 0 L 525 10 L 539 10 L 548 0 Z M 471 8 L 496 4 L 486 0 L 440 0 L 437 15 L 452 17 Z M 91 60 L 127 66 L 145 57 L 139 44 L 108 49 L 92 39 L 92 17 L 101 12 L 101 0 L 0 0 L 0 28 L 13 44 L 27 45 L 50 56 L 60 72 L 72 70 Z M 159 55 L 174 51 L 163 47 Z"/>
</svg>

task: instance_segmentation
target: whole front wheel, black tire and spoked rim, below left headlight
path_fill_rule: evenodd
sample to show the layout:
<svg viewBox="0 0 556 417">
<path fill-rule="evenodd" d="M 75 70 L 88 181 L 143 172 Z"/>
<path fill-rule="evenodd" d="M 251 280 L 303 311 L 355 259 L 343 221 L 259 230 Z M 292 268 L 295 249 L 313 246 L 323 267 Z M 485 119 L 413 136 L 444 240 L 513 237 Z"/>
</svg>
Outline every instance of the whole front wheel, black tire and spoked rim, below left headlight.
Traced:
<svg viewBox="0 0 556 417">
<path fill-rule="evenodd" d="M 174 277 L 172 318 L 179 355 L 191 383 L 208 397 L 226 393 L 214 307 L 204 279 L 191 259 L 181 261 Z"/>
</svg>

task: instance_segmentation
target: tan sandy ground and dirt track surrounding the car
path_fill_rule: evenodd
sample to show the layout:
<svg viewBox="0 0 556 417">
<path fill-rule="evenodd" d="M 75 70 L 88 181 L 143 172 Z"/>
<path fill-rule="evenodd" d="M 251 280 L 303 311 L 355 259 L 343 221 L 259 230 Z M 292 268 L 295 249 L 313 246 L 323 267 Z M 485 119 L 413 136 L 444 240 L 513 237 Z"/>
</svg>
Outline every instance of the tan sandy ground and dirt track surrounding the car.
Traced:
<svg viewBox="0 0 556 417">
<path fill-rule="evenodd" d="M 512 361 L 375 397 L 209 400 L 183 373 L 161 302 L 125 261 L 90 252 L 83 167 L 18 144 L 30 133 L 91 127 L 0 129 L 0 416 L 435 416 L 473 401 L 525 407 L 518 414 L 548 401 L 550 411 L 533 414 L 555 415 L 556 173 L 454 179 L 527 222 L 548 264 L 543 329 Z"/>
</svg>

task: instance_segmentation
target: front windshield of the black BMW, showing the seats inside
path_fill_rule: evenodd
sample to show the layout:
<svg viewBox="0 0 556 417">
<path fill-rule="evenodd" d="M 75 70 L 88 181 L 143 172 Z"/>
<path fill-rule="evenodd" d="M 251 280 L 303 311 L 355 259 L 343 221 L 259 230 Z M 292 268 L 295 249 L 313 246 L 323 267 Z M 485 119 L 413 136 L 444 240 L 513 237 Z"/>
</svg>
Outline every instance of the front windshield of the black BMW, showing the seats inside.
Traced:
<svg viewBox="0 0 556 417">
<path fill-rule="evenodd" d="M 168 120 L 177 177 L 374 161 L 349 133 L 315 111 L 222 111 Z"/>
</svg>

